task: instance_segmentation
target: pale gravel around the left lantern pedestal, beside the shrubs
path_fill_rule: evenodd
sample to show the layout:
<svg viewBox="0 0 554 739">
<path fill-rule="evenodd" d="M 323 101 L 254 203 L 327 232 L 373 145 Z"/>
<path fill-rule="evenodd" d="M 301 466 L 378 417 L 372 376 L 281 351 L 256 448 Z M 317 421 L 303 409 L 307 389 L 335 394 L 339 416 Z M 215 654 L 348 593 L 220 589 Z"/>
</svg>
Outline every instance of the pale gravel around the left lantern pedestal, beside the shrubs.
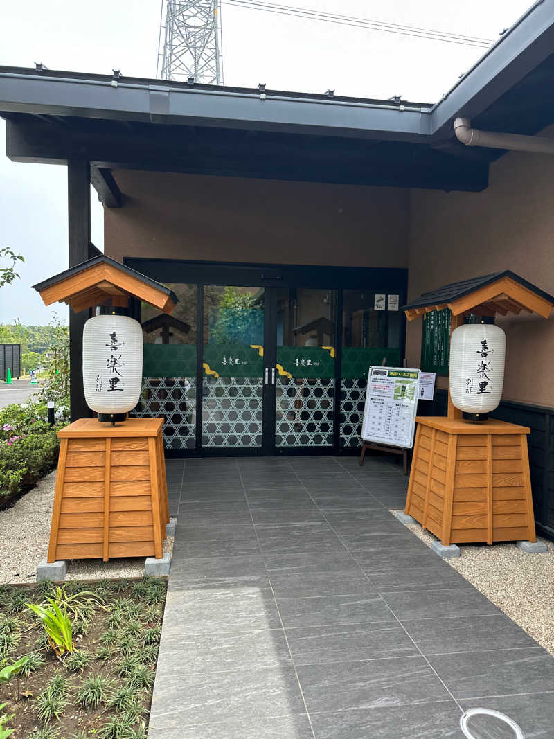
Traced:
<svg viewBox="0 0 554 739">
<path fill-rule="evenodd" d="M 0 511 L 0 583 L 35 582 L 36 566 L 47 555 L 54 502 L 55 471 L 21 497 L 11 508 Z M 174 537 L 165 539 L 163 551 L 171 552 Z M 72 559 L 66 579 L 94 580 L 140 577 L 144 558 Z"/>
</svg>

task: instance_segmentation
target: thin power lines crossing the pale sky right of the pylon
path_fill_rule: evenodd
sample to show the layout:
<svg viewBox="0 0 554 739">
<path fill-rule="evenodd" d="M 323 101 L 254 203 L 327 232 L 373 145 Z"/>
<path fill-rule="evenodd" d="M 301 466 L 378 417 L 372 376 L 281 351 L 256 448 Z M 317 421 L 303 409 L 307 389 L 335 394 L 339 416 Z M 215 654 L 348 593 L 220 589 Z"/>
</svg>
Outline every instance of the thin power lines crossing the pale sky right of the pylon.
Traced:
<svg viewBox="0 0 554 739">
<path fill-rule="evenodd" d="M 276 13 L 281 16 L 306 18 L 313 21 L 324 21 L 326 23 L 335 23 L 343 26 L 366 28 L 368 30 L 383 31 L 384 33 L 397 33 L 416 38 L 428 38 L 432 41 L 445 41 L 448 44 L 462 44 L 464 46 L 488 48 L 494 43 L 494 41 L 490 41 L 487 38 L 479 38 L 477 36 L 447 33 L 445 31 L 435 31 L 428 28 L 404 26 L 395 23 L 385 23 L 383 21 L 372 20 L 371 18 L 343 16 L 338 13 L 324 13 L 320 10 L 261 2 L 260 0 L 222 0 L 222 2 L 225 5 L 233 7 L 243 7 L 250 10 L 264 10 L 267 13 Z"/>
</svg>

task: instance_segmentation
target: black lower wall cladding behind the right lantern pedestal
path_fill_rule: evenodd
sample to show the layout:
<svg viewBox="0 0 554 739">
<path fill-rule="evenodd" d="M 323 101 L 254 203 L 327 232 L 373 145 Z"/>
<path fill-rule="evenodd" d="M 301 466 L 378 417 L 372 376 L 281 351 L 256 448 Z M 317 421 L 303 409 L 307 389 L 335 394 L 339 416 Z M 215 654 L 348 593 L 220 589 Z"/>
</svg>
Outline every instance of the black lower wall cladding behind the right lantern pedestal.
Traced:
<svg viewBox="0 0 554 739">
<path fill-rule="evenodd" d="M 448 394 L 436 390 L 434 401 L 421 401 L 419 415 L 446 415 Z M 554 408 L 502 401 L 490 414 L 531 429 L 527 436 L 531 489 L 537 533 L 554 541 Z"/>
</svg>

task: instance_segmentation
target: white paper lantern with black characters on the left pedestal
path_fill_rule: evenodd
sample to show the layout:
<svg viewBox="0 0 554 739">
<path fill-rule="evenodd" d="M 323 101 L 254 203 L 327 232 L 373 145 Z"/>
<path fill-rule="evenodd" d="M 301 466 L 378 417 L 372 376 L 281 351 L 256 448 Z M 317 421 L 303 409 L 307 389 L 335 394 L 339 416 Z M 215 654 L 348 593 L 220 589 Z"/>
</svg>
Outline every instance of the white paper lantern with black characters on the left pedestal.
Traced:
<svg viewBox="0 0 554 739">
<path fill-rule="evenodd" d="M 115 416 L 131 411 L 143 378 L 143 330 L 129 316 L 95 316 L 83 330 L 83 386 L 86 404 Z M 102 418 L 109 420 L 109 418 Z"/>
</svg>

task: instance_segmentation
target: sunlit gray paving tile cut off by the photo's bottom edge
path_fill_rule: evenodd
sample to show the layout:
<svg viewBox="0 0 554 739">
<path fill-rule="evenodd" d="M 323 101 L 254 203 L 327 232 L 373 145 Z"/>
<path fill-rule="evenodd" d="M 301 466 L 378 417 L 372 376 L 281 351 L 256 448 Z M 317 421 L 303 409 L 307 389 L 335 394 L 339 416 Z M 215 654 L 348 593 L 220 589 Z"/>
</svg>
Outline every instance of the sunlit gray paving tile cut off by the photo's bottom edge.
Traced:
<svg viewBox="0 0 554 739">
<path fill-rule="evenodd" d="M 243 715 L 235 721 L 148 729 L 148 739 L 313 739 L 307 714 L 287 716 Z"/>
</svg>

